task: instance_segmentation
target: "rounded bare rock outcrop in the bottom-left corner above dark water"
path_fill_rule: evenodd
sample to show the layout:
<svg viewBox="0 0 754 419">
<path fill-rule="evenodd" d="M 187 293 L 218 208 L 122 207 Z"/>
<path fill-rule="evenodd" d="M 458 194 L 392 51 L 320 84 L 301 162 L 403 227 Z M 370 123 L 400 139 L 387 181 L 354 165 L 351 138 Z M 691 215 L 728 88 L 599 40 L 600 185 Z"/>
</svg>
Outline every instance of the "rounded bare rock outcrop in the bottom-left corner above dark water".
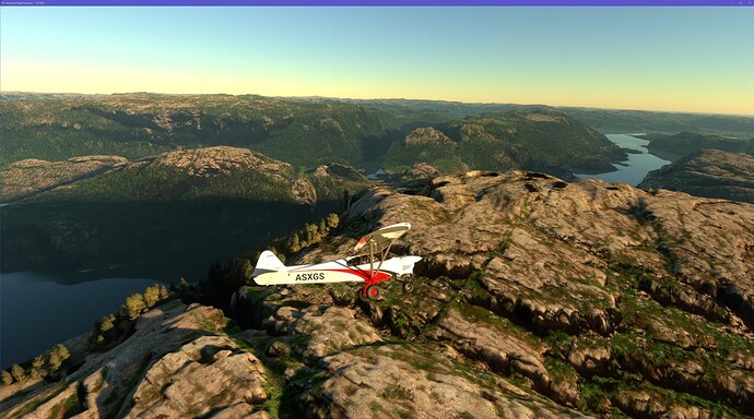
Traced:
<svg viewBox="0 0 754 419">
<path fill-rule="evenodd" d="M 210 307 L 153 309 L 115 349 L 89 355 L 63 382 L 45 384 L 33 397 L 11 399 L 0 416 L 47 418 L 69 409 L 78 418 L 250 416 L 268 398 L 267 375 L 222 333 L 226 324 Z"/>
</svg>

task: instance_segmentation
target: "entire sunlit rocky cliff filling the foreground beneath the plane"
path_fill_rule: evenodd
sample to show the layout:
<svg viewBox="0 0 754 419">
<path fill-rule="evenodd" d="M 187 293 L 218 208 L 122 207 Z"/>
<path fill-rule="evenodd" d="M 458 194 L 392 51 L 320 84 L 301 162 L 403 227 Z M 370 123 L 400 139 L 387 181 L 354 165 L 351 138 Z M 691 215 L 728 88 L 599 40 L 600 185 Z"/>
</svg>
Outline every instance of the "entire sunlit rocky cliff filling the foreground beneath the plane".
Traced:
<svg viewBox="0 0 754 419">
<path fill-rule="evenodd" d="M 155 310 L 3 417 L 74 394 L 80 417 L 754 415 L 754 205 L 476 171 L 373 188 L 292 262 L 397 222 L 413 228 L 396 252 L 424 258 L 413 292 L 245 287 L 227 313 L 244 331 L 201 306 Z"/>
</svg>

